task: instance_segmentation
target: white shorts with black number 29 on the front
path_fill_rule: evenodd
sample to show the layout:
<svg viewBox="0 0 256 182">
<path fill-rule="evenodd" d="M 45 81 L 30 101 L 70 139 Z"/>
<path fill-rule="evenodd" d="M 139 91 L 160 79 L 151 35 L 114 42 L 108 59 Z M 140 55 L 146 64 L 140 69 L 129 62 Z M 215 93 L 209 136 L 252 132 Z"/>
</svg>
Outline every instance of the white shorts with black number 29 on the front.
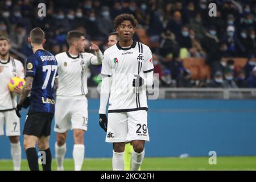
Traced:
<svg viewBox="0 0 256 182">
<path fill-rule="evenodd" d="M 149 141 L 147 111 L 109 113 L 106 142 L 118 143 L 132 140 Z"/>
</svg>

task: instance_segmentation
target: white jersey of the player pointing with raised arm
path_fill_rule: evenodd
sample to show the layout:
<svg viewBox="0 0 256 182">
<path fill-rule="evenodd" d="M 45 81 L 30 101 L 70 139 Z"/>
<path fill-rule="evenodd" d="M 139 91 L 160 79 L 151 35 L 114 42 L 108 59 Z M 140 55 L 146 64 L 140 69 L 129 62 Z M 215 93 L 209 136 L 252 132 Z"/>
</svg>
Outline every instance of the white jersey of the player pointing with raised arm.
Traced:
<svg viewBox="0 0 256 182">
<path fill-rule="evenodd" d="M 59 87 L 56 96 L 81 96 L 88 93 L 87 68 L 89 64 L 101 64 L 101 60 L 92 53 L 80 53 L 72 57 L 68 52 L 58 53 L 55 57 L 58 65 Z"/>
</svg>

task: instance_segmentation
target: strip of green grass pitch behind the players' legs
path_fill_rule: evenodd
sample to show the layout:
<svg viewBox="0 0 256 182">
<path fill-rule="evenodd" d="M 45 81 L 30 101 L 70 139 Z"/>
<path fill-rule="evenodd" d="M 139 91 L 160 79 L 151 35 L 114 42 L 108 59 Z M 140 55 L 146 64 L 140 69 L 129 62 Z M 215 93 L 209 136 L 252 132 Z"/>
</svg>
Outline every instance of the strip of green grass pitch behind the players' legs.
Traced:
<svg viewBox="0 0 256 182">
<path fill-rule="evenodd" d="M 145 158 L 143 170 L 256 170 L 256 156 L 217 157 L 217 164 L 210 165 L 208 157 L 189 158 Z M 65 159 L 64 169 L 73 170 L 73 159 Z M 27 160 L 22 160 L 22 170 L 28 170 Z M 41 168 L 42 169 L 42 168 Z M 52 160 L 52 169 L 56 170 L 55 159 Z M 13 170 L 11 160 L 0 160 L 0 170 Z M 85 159 L 82 170 L 112 170 L 112 159 L 90 158 Z"/>
</svg>

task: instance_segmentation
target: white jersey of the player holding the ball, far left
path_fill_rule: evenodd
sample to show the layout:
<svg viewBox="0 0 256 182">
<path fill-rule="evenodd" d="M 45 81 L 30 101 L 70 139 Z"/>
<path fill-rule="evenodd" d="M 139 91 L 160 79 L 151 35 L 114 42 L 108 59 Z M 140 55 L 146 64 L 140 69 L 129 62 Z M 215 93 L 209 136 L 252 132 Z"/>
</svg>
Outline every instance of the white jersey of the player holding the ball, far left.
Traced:
<svg viewBox="0 0 256 182">
<path fill-rule="evenodd" d="M 24 78 L 24 67 L 19 60 L 9 57 L 5 63 L 0 60 L 3 71 L 0 73 L 0 111 L 15 109 L 17 97 L 9 90 L 9 81 L 12 77 L 19 76 Z"/>
</svg>

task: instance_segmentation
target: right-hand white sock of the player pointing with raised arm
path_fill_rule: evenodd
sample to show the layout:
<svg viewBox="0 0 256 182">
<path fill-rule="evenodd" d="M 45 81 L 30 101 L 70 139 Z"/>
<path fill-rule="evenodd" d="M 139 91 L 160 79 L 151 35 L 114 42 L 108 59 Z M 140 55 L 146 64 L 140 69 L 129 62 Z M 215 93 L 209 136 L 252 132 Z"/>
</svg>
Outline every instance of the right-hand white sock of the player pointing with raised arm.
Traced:
<svg viewBox="0 0 256 182">
<path fill-rule="evenodd" d="M 81 171 L 84 162 L 84 144 L 74 144 L 73 159 L 75 162 L 75 171 Z"/>
</svg>

